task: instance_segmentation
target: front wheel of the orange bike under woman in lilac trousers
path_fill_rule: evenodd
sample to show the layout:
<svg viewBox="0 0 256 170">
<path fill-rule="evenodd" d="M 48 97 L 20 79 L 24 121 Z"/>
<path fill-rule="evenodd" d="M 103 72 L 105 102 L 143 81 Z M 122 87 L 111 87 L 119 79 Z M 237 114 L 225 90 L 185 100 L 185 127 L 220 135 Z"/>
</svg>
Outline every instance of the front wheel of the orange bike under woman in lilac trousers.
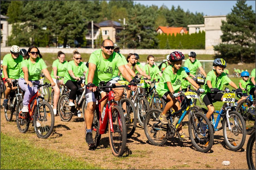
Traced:
<svg viewBox="0 0 256 170">
<path fill-rule="evenodd" d="M 42 101 L 35 109 L 33 124 L 36 135 L 39 138 L 46 139 L 51 135 L 54 127 L 54 113 L 51 105 L 46 101 Z"/>
</svg>

